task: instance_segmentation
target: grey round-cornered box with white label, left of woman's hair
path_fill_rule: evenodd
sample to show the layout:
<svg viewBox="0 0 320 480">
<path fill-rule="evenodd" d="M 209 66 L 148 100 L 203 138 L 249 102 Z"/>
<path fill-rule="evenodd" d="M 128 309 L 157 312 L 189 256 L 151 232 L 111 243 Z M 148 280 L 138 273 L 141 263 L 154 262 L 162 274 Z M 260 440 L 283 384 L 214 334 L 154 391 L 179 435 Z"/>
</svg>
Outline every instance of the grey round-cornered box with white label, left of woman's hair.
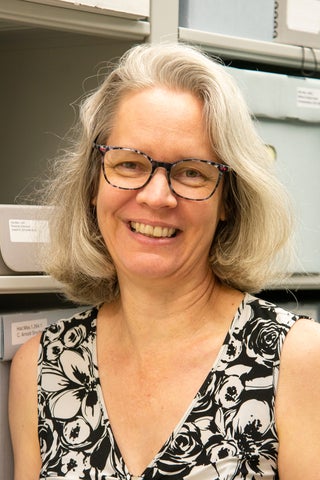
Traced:
<svg viewBox="0 0 320 480">
<path fill-rule="evenodd" d="M 41 272 L 40 248 L 50 241 L 50 207 L 0 205 L 0 275 Z"/>
</svg>

